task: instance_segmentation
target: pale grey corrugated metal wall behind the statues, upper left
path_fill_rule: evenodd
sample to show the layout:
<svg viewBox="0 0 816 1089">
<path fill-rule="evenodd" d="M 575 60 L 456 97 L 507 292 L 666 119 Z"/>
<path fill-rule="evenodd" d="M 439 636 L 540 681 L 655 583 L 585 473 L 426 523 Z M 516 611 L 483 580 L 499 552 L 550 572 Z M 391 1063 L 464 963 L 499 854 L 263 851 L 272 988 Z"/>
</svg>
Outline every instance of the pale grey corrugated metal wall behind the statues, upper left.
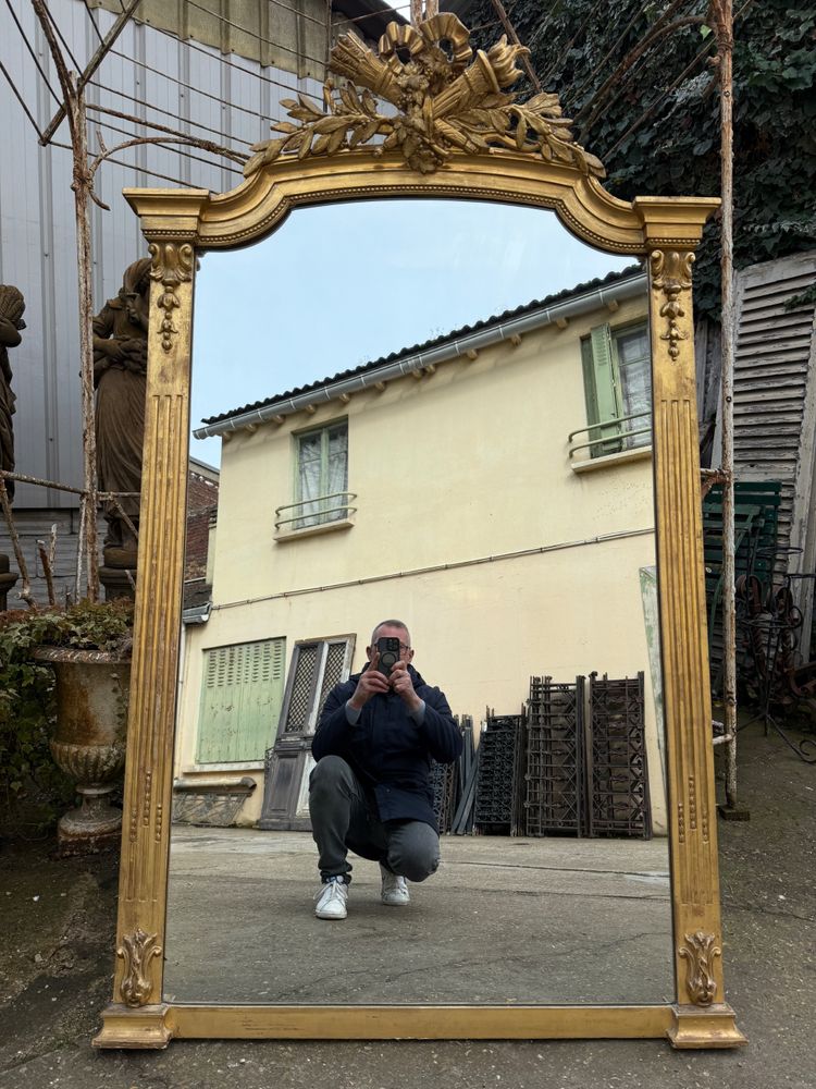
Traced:
<svg viewBox="0 0 816 1089">
<path fill-rule="evenodd" d="M 59 82 L 42 32 L 27 0 L 12 0 L 14 12 L 48 82 L 59 94 Z M 308 8 L 325 17 L 323 0 Z M 51 0 L 49 10 L 75 58 L 84 66 L 99 45 L 91 17 L 81 0 Z M 104 35 L 115 15 L 92 12 Z M 40 130 L 58 102 L 38 75 L 14 20 L 0 7 L 0 60 L 9 71 Z M 76 289 L 76 245 L 72 158 L 67 124 L 63 121 L 54 146 L 41 147 L 33 125 L 8 84 L 0 82 L 0 283 L 20 287 L 26 299 L 27 328 L 22 344 L 10 352 L 17 397 L 14 417 L 17 472 L 82 485 L 82 425 Z M 215 144 L 248 151 L 269 136 L 270 119 L 282 115 L 280 99 L 302 90 L 320 97 L 314 79 L 275 68 L 264 68 L 235 53 L 223 54 L 198 41 L 181 41 L 172 34 L 131 23 L 103 61 L 87 91 L 89 107 L 102 106 L 156 121 Z M 149 103 L 149 105 L 148 105 Z M 112 149 L 134 136 L 159 135 L 89 108 L 90 143 L 97 129 Z M 62 145 L 62 146 L 60 146 Z M 115 295 L 125 267 L 147 256 L 137 221 L 122 198 L 126 186 L 191 185 L 223 191 L 242 180 L 240 167 L 214 159 L 207 151 L 139 146 L 116 152 L 97 174 L 97 192 L 110 211 L 92 211 L 94 298 L 96 309 Z M 20 485 L 15 511 L 25 512 L 34 537 L 47 536 L 55 509 L 74 507 L 75 497 Z M 40 511 L 38 516 L 36 511 Z M 41 526 L 37 527 L 37 522 Z M 30 525 L 29 525 L 30 523 Z M 0 551 L 10 552 L 0 527 Z M 36 559 L 32 554 L 32 567 Z M 10 596 L 12 603 L 13 594 Z"/>
</svg>

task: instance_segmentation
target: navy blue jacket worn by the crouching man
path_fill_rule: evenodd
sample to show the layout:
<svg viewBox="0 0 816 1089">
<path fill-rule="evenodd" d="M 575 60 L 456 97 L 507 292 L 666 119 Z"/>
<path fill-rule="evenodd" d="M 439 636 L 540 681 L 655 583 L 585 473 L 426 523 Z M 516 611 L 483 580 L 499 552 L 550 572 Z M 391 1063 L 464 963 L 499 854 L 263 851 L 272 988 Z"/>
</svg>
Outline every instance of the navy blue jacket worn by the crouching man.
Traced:
<svg viewBox="0 0 816 1089">
<path fill-rule="evenodd" d="M 452 763 L 462 749 L 444 693 L 408 670 L 413 689 L 425 701 L 418 724 L 401 697 L 378 693 L 360 712 L 355 725 L 346 718 L 346 702 L 354 696 L 359 673 L 329 694 L 311 743 L 316 760 L 339 756 L 350 764 L 366 794 L 376 800 L 380 820 L 421 820 L 436 828 L 431 757 Z"/>
</svg>

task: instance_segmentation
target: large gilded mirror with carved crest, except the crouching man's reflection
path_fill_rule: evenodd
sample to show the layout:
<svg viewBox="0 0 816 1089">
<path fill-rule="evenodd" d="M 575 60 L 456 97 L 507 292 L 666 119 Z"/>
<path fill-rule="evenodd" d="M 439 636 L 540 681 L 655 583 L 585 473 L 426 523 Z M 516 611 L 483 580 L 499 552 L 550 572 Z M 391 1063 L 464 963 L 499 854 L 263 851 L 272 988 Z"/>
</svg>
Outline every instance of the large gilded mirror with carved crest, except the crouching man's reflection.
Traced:
<svg viewBox="0 0 816 1089">
<path fill-rule="evenodd" d="M 346 91 L 331 118 L 295 106 L 238 189 L 126 194 L 154 335 L 101 1047 L 742 1041 L 722 991 L 692 341 L 716 201 L 611 198 L 555 103 L 514 113 L 499 93 L 514 50 L 473 60 L 453 16 L 335 63 L 388 98 L 423 51 L 436 140 L 362 146 L 338 118 L 357 103 L 374 135 L 374 100 Z M 213 443 L 208 596 L 182 624 L 188 457 Z M 383 909 L 375 862 L 355 858 L 348 918 L 326 922 L 310 741 L 385 616 L 470 762 L 434 769 L 442 866 L 410 906 Z M 491 759 L 492 795 L 474 771 Z"/>
</svg>

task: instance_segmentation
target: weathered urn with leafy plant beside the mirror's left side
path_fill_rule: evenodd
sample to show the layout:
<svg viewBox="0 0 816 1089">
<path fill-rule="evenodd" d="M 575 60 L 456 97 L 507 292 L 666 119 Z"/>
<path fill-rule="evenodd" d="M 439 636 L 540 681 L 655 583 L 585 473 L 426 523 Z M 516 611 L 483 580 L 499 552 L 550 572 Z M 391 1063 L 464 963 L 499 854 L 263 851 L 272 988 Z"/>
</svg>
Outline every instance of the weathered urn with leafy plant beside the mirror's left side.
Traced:
<svg viewBox="0 0 816 1089">
<path fill-rule="evenodd" d="M 32 774 L 47 736 L 53 760 L 82 798 L 59 821 L 63 854 L 98 851 L 121 835 L 122 811 L 110 796 L 125 760 L 132 646 L 133 601 L 124 598 L 2 619 L 0 736 L 7 750 L 16 742 L 17 771 L 7 790 L 20 788 L 21 775 Z M 21 723 L 25 736 L 14 737 Z"/>
</svg>

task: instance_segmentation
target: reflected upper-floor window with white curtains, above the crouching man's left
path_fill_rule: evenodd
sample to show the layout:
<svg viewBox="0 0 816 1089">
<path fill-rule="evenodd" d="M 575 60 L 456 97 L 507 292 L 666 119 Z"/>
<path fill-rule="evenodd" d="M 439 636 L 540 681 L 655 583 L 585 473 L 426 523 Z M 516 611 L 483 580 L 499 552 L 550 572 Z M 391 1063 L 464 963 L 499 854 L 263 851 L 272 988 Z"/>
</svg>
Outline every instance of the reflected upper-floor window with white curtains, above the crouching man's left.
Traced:
<svg viewBox="0 0 816 1089">
<path fill-rule="evenodd" d="M 348 516 L 348 420 L 296 437 L 295 529 Z"/>
</svg>

